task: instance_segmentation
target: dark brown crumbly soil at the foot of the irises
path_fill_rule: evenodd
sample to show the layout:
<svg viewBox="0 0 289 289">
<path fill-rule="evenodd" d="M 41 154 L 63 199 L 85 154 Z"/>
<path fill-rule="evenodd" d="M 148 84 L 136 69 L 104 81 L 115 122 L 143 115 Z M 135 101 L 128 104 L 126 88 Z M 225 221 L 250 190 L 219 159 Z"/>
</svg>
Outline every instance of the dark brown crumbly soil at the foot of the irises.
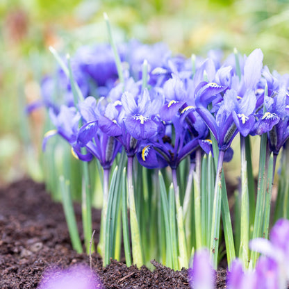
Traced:
<svg viewBox="0 0 289 289">
<path fill-rule="evenodd" d="M 81 227 L 81 208 L 75 206 Z M 94 242 L 99 238 L 100 211 L 94 210 Z M 42 274 L 51 267 L 89 265 L 89 256 L 72 250 L 61 204 L 51 201 L 44 185 L 31 180 L 0 189 L 0 288 L 37 288 Z M 151 272 L 143 266 L 126 267 L 112 261 L 102 267 L 98 254 L 92 266 L 104 288 L 190 288 L 188 270 L 174 272 L 156 261 Z M 217 288 L 225 287 L 226 270 L 218 272 Z"/>
</svg>

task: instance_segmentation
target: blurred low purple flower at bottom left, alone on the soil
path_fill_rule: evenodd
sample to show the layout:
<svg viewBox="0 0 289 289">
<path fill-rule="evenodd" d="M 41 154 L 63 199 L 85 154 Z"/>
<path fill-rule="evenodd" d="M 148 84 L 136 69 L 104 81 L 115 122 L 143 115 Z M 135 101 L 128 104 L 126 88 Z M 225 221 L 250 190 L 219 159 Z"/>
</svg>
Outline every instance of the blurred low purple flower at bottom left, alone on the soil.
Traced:
<svg viewBox="0 0 289 289">
<path fill-rule="evenodd" d="M 42 276 L 38 289 L 102 289 L 97 275 L 85 265 L 53 269 Z"/>
</svg>

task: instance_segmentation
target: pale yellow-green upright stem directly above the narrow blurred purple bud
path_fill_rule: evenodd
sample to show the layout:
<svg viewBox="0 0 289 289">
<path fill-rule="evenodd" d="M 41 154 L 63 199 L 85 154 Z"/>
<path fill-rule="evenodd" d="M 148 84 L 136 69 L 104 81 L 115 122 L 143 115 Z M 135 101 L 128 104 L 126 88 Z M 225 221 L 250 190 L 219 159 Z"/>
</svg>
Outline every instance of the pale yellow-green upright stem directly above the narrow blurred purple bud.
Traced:
<svg viewBox="0 0 289 289">
<path fill-rule="evenodd" d="M 202 247 L 201 243 L 201 149 L 196 151 L 196 171 L 194 173 L 194 204 L 195 204 L 195 236 L 196 247 Z"/>
</svg>

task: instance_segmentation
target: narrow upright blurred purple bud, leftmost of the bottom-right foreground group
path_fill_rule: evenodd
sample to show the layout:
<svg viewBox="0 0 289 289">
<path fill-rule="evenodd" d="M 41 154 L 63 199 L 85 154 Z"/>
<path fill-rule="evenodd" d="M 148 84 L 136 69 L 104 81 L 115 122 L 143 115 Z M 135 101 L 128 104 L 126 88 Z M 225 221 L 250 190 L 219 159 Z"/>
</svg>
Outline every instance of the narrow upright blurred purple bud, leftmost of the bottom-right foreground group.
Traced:
<svg viewBox="0 0 289 289">
<path fill-rule="evenodd" d="M 207 249 L 200 249 L 194 255 L 192 269 L 189 269 L 190 287 L 194 289 L 215 288 L 215 270 Z"/>
</svg>

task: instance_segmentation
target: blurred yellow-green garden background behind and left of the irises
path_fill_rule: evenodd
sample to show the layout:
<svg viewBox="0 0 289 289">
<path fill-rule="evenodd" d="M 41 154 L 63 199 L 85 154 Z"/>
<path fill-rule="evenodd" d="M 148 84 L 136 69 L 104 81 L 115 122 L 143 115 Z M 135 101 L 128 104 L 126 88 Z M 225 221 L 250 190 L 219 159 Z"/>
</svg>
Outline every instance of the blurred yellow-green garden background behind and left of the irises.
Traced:
<svg viewBox="0 0 289 289">
<path fill-rule="evenodd" d="M 163 41 L 186 56 L 259 47 L 270 70 L 289 70 L 287 0 L 0 0 L 0 183 L 41 181 L 44 110 L 27 117 L 25 106 L 40 99 L 40 80 L 56 65 L 49 45 L 73 54 L 107 41 L 104 12 L 117 41 Z"/>
</svg>

